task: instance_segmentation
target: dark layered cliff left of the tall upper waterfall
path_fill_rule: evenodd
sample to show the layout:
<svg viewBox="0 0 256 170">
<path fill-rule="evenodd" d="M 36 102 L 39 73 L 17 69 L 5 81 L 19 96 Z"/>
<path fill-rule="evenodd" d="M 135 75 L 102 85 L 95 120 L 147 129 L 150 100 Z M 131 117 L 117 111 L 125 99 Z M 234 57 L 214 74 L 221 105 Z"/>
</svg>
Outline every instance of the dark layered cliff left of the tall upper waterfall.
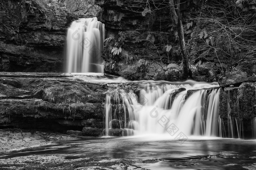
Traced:
<svg viewBox="0 0 256 170">
<path fill-rule="evenodd" d="M 63 71 L 66 28 L 74 17 L 45 2 L 0 2 L 0 71 Z"/>
</svg>

